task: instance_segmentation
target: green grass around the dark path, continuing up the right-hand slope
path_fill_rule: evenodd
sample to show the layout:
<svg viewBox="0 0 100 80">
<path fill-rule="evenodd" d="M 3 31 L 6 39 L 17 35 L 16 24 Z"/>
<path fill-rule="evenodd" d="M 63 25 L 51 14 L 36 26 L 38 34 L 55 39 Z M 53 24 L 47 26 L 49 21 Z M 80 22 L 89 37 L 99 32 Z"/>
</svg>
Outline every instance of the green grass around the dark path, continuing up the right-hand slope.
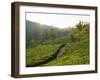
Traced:
<svg viewBox="0 0 100 80">
<path fill-rule="evenodd" d="M 89 31 L 73 32 L 74 40 L 63 36 L 53 41 L 45 41 L 26 49 L 26 64 L 32 65 L 45 61 L 56 52 L 61 44 L 66 43 L 64 53 L 46 64 L 40 66 L 82 65 L 89 64 Z M 34 44 L 33 44 L 34 45 Z"/>
</svg>

